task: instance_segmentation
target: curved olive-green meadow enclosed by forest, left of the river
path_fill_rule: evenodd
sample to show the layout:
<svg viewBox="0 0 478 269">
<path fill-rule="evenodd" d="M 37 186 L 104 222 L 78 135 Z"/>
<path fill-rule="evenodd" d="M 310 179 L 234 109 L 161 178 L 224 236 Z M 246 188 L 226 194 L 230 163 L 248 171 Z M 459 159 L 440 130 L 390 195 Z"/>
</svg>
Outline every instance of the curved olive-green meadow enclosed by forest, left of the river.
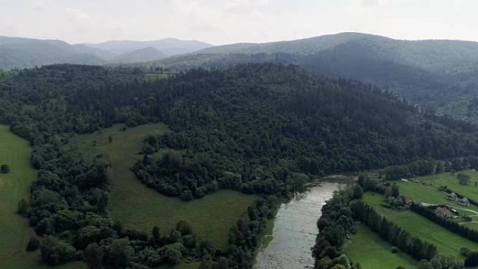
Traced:
<svg viewBox="0 0 478 269">
<path fill-rule="evenodd" d="M 142 158 L 136 153 L 141 150 L 144 138 L 148 134 L 168 131 L 167 126 L 149 124 L 120 131 L 122 127 L 115 125 L 101 132 L 77 136 L 66 145 L 66 149 L 78 150 L 89 157 L 99 153 L 108 155 L 113 166 L 110 194 L 113 219 L 122 221 L 126 227 L 148 232 L 157 225 L 163 233 L 183 219 L 191 224 L 198 238 L 226 249 L 229 229 L 256 196 L 220 190 L 196 201 L 183 202 L 145 187 L 129 168 Z M 109 136 L 113 138 L 112 143 L 109 143 Z"/>
</svg>

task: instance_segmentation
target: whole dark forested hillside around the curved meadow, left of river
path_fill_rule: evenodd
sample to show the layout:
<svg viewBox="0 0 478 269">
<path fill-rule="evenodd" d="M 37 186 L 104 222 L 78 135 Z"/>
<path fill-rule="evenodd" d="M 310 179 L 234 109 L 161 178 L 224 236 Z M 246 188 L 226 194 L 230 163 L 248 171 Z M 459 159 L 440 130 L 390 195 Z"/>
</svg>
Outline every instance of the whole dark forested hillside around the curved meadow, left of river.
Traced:
<svg viewBox="0 0 478 269">
<path fill-rule="evenodd" d="M 38 180 L 19 212 L 45 235 L 46 263 L 156 268 L 191 259 L 202 268 L 250 268 L 277 197 L 310 177 L 478 152 L 475 126 L 419 112 L 379 87 L 317 78 L 297 66 L 193 69 L 152 80 L 156 75 L 71 65 L 1 73 L 0 122 L 34 147 Z M 148 137 L 132 168 L 148 187 L 185 201 L 218 188 L 261 195 L 231 227 L 228 250 L 196 240 L 184 221 L 151 234 L 113 224 L 108 158 L 62 150 L 73 133 L 148 122 L 172 130 Z"/>
</svg>

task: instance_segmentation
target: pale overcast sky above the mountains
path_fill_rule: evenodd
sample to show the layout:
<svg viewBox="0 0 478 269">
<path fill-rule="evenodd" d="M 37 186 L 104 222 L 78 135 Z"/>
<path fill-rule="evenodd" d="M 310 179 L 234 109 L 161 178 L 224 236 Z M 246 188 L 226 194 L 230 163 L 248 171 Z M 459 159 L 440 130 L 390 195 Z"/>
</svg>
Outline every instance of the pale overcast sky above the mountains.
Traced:
<svg viewBox="0 0 478 269">
<path fill-rule="evenodd" d="M 344 31 L 478 41 L 477 0 L 0 0 L 0 36 L 212 45 Z"/>
</svg>

